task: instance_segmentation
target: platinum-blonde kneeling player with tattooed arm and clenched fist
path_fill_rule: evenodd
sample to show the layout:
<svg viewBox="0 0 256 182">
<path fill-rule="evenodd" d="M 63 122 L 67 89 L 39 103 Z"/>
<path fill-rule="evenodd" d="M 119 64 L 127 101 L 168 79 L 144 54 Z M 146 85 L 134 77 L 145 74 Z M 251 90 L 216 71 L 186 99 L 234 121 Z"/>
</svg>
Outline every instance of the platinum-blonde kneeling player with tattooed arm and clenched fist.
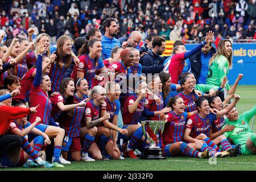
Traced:
<svg viewBox="0 0 256 182">
<path fill-rule="evenodd" d="M 89 93 L 90 101 L 85 105 L 85 122 L 81 124 L 81 139 L 82 139 L 82 161 L 94 162 L 95 160 L 88 156 L 88 152 L 96 159 L 102 159 L 100 149 L 94 143 L 94 137 L 97 134 L 97 125 L 102 121 L 110 118 L 110 114 L 106 113 L 100 117 L 100 105 L 105 102 L 106 91 L 102 86 L 94 86 Z"/>
</svg>

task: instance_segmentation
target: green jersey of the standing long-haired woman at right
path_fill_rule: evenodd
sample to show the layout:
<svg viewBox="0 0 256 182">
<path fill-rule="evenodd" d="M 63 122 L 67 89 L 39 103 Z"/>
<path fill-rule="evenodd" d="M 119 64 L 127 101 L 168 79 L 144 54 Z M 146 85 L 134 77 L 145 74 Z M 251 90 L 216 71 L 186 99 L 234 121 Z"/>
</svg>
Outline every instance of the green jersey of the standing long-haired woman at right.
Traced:
<svg viewBox="0 0 256 182">
<path fill-rule="evenodd" d="M 218 55 L 209 65 L 207 85 L 221 86 L 223 78 L 228 75 L 229 63 L 223 55 Z M 229 90 L 229 84 L 226 84 L 226 88 Z"/>
</svg>

